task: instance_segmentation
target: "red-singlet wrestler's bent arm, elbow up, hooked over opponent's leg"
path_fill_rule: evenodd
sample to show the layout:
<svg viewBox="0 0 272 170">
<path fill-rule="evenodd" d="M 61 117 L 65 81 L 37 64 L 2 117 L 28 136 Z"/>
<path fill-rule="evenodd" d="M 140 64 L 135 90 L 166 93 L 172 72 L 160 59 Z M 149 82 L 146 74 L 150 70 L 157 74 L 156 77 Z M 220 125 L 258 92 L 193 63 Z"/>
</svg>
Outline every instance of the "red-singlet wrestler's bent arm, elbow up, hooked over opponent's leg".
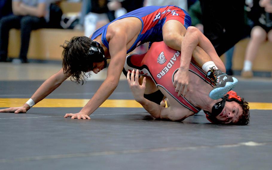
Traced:
<svg viewBox="0 0 272 170">
<path fill-rule="evenodd" d="M 202 66 L 207 61 L 213 60 L 215 65 L 225 72 L 223 62 L 218 57 L 213 45 L 207 37 L 197 28 L 188 27 L 181 43 L 180 69 L 178 69 L 176 73 L 177 76 L 173 83 L 175 92 L 178 92 L 178 96 L 181 94 L 186 96 L 187 89 L 190 88 L 188 70 L 191 60 L 195 61 L 199 66 Z"/>
</svg>

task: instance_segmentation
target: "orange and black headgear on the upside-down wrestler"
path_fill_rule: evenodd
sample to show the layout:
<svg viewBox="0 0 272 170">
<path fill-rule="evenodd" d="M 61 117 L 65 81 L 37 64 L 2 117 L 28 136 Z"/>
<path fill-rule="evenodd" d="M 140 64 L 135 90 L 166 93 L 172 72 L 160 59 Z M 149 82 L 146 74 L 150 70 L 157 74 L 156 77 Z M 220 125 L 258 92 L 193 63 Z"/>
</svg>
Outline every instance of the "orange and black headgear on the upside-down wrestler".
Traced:
<svg viewBox="0 0 272 170">
<path fill-rule="evenodd" d="M 235 91 L 232 91 L 232 90 L 227 92 L 227 94 L 224 97 L 222 97 L 222 99 L 223 99 L 222 101 L 219 101 L 213 105 L 212 113 L 204 110 L 204 113 L 206 114 L 206 118 L 210 122 L 212 122 L 209 119 L 210 117 L 216 117 L 217 115 L 219 115 L 222 112 L 222 110 L 225 107 L 226 101 L 236 101 L 237 103 L 242 104 L 241 97 L 239 95 L 237 95 L 237 93 Z"/>
</svg>

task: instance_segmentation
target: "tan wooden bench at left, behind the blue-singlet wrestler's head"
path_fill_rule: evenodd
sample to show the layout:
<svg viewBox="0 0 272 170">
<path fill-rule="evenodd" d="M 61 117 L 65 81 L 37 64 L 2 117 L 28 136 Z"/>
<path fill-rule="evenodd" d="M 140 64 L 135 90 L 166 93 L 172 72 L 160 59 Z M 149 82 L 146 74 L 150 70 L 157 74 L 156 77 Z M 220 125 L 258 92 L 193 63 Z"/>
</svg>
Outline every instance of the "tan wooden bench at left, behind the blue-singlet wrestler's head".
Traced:
<svg viewBox="0 0 272 170">
<path fill-rule="evenodd" d="M 65 40 L 84 35 L 83 31 L 67 29 L 38 29 L 31 31 L 27 58 L 37 60 L 62 60 L 61 53 Z M 8 56 L 18 58 L 21 47 L 20 30 L 11 29 Z"/>
</svg>

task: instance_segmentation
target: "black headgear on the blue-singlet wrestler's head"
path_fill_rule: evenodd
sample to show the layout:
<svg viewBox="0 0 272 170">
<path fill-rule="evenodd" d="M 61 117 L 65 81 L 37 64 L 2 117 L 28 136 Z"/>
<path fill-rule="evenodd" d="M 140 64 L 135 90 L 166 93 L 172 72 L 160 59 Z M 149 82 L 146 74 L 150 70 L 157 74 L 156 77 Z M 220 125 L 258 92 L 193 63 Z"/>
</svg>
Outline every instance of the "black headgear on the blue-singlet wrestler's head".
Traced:
<svg viewBox="0 0 272 170">
<path fill-rule="evenodd" d="M 107 58 L 105 57 L 105 52 L 102 46 L 96 42 L 92 41 L 91 46 L 88 51 L 88 55 L 92 57 L 92 60 L 94 63 L 100 63 L 102 61 L 105 61 L 104 68 L 107 66 Z"/>
</svg>

